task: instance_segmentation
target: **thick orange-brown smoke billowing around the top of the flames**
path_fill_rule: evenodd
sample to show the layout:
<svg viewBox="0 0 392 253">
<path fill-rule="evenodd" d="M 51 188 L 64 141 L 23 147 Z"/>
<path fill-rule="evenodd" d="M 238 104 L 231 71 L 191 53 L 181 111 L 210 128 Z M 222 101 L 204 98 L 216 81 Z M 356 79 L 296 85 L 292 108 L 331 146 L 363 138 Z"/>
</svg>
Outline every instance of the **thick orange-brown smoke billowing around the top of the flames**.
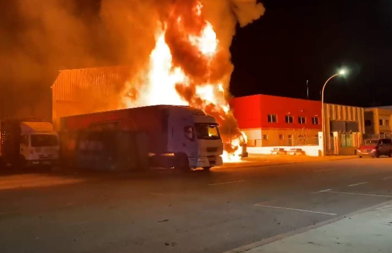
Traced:
<svg viewBox="0 0 392 253">
<path fill-rule="evenodd" d="M 171 18 L 174 9 L 189 11 L 194 0 L 14 0 L 0 1 L 0 112 L 18 114 L 31 106 L 39 118 L 50 120 L 50 85 L 60 69 L 127 65 L 135 76 L 146 66 L 155 46 L 158 24 Z M 230 63 L 232 37 L 237 22 L 252 22 L 264 13 L 256 0 L 203 0 L 205 19 L 211 22 L 220 41 L 213 71 L 187 67 L 197 58 L 185 58 L 179 40 L 171 45 L 174 64 L 183 66 L 194 80 L 225 80 L 228 89 L 233 67 Z M 185 22 L 200 29 L 194 19 Z M 200 20 L 203 22 L 203 20 Z M 42 101 L 46 101 L 43 106 Z M 23 104 L 25 103 L 25 104 Z M 40 106 L 37 106 L 40 105 Z M 38 108 L 37 108 L 38 107 Z"/>
</svg>

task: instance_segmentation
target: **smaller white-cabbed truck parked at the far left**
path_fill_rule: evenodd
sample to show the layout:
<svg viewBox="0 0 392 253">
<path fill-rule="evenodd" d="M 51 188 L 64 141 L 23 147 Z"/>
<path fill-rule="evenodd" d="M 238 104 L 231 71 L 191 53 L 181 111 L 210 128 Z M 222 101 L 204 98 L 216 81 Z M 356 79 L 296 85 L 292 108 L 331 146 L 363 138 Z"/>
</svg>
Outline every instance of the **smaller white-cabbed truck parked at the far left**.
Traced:
<svg viewBox="0 0 392 253">
<path fill-rule="evenodd" d="M 0 131 L 2 165 L 52 166 L 58 161 L 58 135 L 51 123 L 7 120 Z"/>
</svg>

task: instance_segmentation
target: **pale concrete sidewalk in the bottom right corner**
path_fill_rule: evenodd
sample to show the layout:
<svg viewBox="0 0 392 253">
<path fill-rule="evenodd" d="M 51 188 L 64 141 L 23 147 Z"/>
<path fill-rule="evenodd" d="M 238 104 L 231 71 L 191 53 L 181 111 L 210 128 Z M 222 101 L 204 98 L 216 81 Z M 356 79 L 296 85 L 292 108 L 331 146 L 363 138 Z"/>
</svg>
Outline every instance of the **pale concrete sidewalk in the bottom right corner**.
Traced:
<svg viewBox="0 0 392 253">
<path fill-rule="evenodd" d="M 261 246 L 245 246 L 229 252 L 247 253 L 391 253 L 392 201 L 350 217 Z M 272 242 L 269 242 L 272 241 Z M 269 242 L 269 243 L 267 243 Z"/>
</svg>

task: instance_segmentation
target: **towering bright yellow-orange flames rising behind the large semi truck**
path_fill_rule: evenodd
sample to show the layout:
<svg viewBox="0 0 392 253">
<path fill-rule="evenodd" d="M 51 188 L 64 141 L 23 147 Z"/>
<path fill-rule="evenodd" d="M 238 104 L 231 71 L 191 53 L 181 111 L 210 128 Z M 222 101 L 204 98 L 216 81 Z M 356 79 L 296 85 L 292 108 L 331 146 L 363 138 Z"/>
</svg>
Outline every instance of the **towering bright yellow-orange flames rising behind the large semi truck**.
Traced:
<svg viewBox="0 0 392 253">
<path fill-rule="evenodd" d="M 225 86 L 223 78 L 215 73 L 222 71 L 212 67 L 212 63 L 219 62 L 219 40 L 212 24 L 203 19 L 202 8 L 196 2 L 189 14 L 196 25 L 189 25 L 189 17 L 176 10 L 169 20 L 157 25 L 156 46 L 148 69 L 127 83 L 123 104 L 128 108 L 189 105 L 203 110 L 220 124 L 224 162 L 236 161 L 241 159 L 246 136 L 239 131 L 230 110 L 225 94 L 228 84 Z M 181 59 L 173 59 L 173 50 Z"/>
</svg>

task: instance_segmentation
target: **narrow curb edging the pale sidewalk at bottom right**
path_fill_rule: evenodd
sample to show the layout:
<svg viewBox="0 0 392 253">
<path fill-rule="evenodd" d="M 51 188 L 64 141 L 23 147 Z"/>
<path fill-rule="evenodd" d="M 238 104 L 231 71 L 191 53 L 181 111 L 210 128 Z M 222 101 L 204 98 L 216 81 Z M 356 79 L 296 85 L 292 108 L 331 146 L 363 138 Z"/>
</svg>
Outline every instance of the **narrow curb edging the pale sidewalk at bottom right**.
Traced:
<svg viewBox="0 0 392 253">
<path fill-rule="evenodd" d="M 274 237 L 270 237 L 270 238 L 266 238 L 266 239 L 260 240 L 258 242 L 254 242 L 254 243 L 251 243 L 251 244 L 248 244 L 248 245 L 245 245 L 245 246 L 241 246 L 239 248 L 230 249 L 229 251 L 225 251 L 223 253 L 241 253 L 241 252 L 246 252 L 246 251 L 249 251 L 250 249 L 258 248 L 258 247 L 261 247 L 261 246 L 263 246 L 265 244 L 269 244 L 271 242 L 275 242 L 277 240 L 281 240 L 281 239 L 286 238 L 286 237 L 290 237 L 290 236 L 293 236 L 293 235 L 296 235 L 296 234 L 299 234 L 299 233 L 303 233 L 303 232 L 309 231 L 309 230 L 314 229 L 314 228 L 319 228 L 321 226 L 324 226 L 324 225 L 336 222 L 338 220 L 341 220 L 341 219 L 344 219 L 344 218 L 347 218 L 347 217 L 351 217 L 351 216 L 354 216 L 354 215 L 359 214 L 359 213 L 365 213 L 367 211 L 371 211 L 371 210 L 374 210 L 374 209 L 376 209 L 378 207 L 382 207 L 382 206 L 385 206 L 385 205 L 388 205 L 388 204 L 391 204 L 391 203 L 392 203 L 392 200 L 387 200 L 385 202 L 381 202 L 381 203 L 376 204 L 374 206 L 366 207 L 364 209 L 359 209 L 357 211 L 354 211 L 352 213 L 347 213 L 346 215 L 341 215 L 339 217 L 330 218 L 328 220 L 324 220 L 322 222 L 319 222 L 319 223 L 314 224 L 314 225 L 307 226 L 305 228 L 299 228 L 299 229 L 296 229 L 296 230 L 293 230 L 293 231 L 290 231 L 290 232 L 287 232 L 287 233 L 283 233 L 283 234 L 280 234 L 280 235 L 276 235 Z"/>
</svg>

